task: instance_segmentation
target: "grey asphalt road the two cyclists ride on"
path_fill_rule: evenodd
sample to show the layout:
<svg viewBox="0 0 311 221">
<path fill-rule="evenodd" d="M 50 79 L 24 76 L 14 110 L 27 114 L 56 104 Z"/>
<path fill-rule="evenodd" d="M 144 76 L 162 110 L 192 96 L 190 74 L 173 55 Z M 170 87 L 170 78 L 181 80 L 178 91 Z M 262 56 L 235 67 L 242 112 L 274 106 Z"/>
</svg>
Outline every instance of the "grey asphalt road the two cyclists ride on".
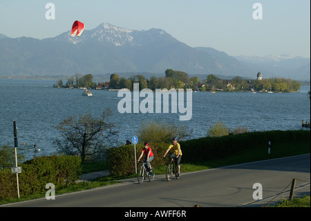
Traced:
<svg viewBox="0 0 311 221">
<path fill-rule="evenodd" d="M 310 154 L 184 173 L 180 179 L 173 178 L 171 182 L 167 182 L 164 175 L 143 184 L 130 179 L 122 184 L 56 195 L 55 200 L 43 198 L 3 206 L 263 206 L 274 197 L 276 198 L 271 202 L 276 202 L 281 197 L 288 198 L 294 178 L 299 179 L 295 195 L 310 195 Z M 254 191 L 257 191 L 253 188 L 256 183 L 262 186 L 262 200 L 253 198 Z"/>
</svg>

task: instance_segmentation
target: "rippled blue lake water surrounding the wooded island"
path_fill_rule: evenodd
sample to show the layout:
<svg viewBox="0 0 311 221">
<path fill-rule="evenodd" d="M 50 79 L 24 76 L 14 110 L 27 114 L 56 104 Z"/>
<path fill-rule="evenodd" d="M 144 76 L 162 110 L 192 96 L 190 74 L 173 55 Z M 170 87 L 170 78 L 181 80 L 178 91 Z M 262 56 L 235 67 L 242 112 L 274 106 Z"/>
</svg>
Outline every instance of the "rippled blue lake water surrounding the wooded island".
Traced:
<svg viewBox="0 0 311 221">
<path fill-rule="evenodd" d="M 117 125 L 117 142 L 121 144 L 138 135 L 142 121 L 152 119 L 187 125 L 194 130 L 189 139 L 206 136 L 216 121 L 232 129 L 247 127 L 248 131 L 300 130 L 302 120 L 310 121 L 310 87 L 283 94 L 192 93 L 192 118 L 179 121 L 180 113 L 120 114 L 117 104 L 122 98 L 117 97 L 117 91 L 91 90 L 93 96 L 82 96 L 82 89 L 53 88 L 55 83 L 56 80 L 0 79 L 0 145 L 14 146 L 12 121 L 16 121 L 19 151 L 27 159 L 35 154 L 53 154 L 57 152 L 53 141 L 60 136 L 55 129 L 57 124 L 73 114 L 91 112 L 100 117 L 106 107 L 113 111 L 111 122 Z M 35 143 L 40 152 L 33 152 Z"/>
</svg>

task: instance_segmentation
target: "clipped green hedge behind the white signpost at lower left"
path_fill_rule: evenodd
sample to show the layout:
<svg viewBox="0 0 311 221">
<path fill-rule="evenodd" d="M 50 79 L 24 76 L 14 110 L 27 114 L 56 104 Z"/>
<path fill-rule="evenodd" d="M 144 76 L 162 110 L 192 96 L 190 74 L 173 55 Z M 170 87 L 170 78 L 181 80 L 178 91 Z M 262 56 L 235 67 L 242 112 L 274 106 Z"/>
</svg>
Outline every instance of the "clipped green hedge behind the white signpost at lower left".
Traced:
<svg viewBox="0 0 311 221">
<path fill-rule="evenodd" d="M 55 188 L 72 184 L 82 174 L 82 161 L 79 157 L 50 156 L 36 157 L 21 163 L 19 174 L 20 195 L 45 193 L 46 184 L 52 183 Z M 10 169 L 0 171 L 0 200 L 17 197 L 16 175 Z"/>
</svg>

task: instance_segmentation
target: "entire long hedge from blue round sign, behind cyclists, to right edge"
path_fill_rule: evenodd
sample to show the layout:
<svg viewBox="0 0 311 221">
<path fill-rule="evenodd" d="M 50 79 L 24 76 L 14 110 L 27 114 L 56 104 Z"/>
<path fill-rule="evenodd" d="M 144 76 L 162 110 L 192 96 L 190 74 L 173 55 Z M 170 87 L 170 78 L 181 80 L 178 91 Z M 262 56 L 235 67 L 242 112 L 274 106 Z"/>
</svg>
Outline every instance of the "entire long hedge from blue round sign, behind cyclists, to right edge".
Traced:
<svg viewBox="0 0 311 221">
<path fill-rule="evenodd" d="M 310 130 L 294 131 L 268 131 L 268 132 L 247 132 L 220 137 L 204 137 L 189 141 L 179 141 L 182 149 L 182 163 L 196 163 L 212 159 L 220 159 L 240 152 L 241 150 L 262 146 L 268 147 L 271 141 L 272 148 L 276 143 L 286 142 L 310 142 Z M 162 158 L 169 144 L 162 143 L 151 145 L 155 158 L 152 166 L 165 163 Z M 143 145 L 136 145 L 137 159 L 140 156 Z M 109 170 L 115 177 L 122 177 L 135 173 L 134 145 L 122 145 L 112 148 L 109 151 Z M 138 165 L 138 169 L 140 165 Z"/>
</svg>

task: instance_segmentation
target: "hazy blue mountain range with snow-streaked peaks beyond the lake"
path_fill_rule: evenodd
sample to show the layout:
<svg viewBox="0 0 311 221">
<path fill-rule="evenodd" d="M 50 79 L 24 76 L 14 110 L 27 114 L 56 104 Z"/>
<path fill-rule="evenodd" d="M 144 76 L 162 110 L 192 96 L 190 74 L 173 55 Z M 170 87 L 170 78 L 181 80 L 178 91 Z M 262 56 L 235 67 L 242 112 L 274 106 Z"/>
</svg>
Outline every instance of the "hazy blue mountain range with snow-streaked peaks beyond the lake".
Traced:
<svg viewBox="0 0 311 221">
<path fill-rule="evenodd" d="M 190 76 L 213 73 L 222 78 L 241 76 L 310 80 L 310 58 L 290 55 L 233 57 L 209 47 L 191 47 L 162 29 L 130 30 L 103 23 L 46 39 L 10 38 L 0 34 L 0 76 L 73 76 L 75 73 L 164 73 L 185 71 Z"/>
</svg>

